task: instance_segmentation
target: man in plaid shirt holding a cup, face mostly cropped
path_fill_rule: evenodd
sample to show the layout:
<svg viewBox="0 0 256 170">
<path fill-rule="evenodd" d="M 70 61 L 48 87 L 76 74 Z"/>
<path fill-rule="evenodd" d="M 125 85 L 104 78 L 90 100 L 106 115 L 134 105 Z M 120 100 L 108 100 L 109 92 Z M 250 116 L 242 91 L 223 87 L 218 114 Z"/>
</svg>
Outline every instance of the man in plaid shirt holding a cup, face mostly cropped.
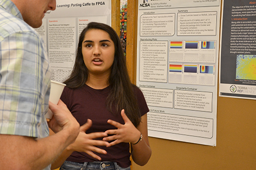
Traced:
<svg viewBox="0 0 256 170">
<path fill-rule="evenodd" d="M 55 8 L 55 0 L 0 0 L 0 169 L 50 169 L 79 133 L 66 105 L 49 102 L 49 59 L 33 29 Z"/>
</svg>

